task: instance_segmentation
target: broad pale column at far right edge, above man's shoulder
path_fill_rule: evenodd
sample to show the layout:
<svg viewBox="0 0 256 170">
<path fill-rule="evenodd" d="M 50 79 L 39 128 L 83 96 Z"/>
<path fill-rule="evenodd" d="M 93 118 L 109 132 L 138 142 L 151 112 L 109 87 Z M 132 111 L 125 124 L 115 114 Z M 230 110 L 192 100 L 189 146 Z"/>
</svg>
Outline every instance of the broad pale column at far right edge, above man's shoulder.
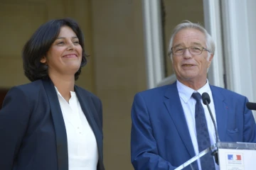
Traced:
<svg viewBox="0 0 256 170">
<path fill-rule="evenodd" d="M 249 22 L 255 23 L 256 13 L 253 12 L 253 16 L 247 15 L 249 6 L 244 0 L 222 1 L 222 6 L 228 89 L 245 95 L 252 101 L 255 97 L 252 88 L 253 49 L 250 40 L 255 33 L 250 34 L 248 26 Z"/>
</svg>

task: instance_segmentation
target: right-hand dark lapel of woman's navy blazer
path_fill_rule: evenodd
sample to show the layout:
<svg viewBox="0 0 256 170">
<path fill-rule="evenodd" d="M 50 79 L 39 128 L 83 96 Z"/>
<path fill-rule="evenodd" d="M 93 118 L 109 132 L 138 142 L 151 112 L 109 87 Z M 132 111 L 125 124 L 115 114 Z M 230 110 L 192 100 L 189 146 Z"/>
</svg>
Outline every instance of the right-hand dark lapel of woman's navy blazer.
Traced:
<svg viewBox="0 0 256 170">
<path fill-rule="evenodd" d="M 83 93 L 82 93 L 82 91 L 80 91 L 80 89 L 77 86 L 75 86 L 75 94 L 78 96 L 78 100 L 80 102 L 82 111 L 85 114 L 85 117 L 86 117 L 90 127 L 92 128 L 92 131 L 95 134 L 95 138 L 97 141 L 97 148 L 98 148 L 98 152 L 99 152 L 99 156 L 100 156 L 99 158 L 100 158 L 101 162 L 103 162 L 102 134 L 100 132 L 100 129 L 97 126 L 97 123 L 95 122 L 95 116 L 93 116 L 93 113 L 91 111 L 91 108 L 94 107 L 94 106 L 92 106 L 92 101 L 87 95 L 81 96 Z"/>
</svg>

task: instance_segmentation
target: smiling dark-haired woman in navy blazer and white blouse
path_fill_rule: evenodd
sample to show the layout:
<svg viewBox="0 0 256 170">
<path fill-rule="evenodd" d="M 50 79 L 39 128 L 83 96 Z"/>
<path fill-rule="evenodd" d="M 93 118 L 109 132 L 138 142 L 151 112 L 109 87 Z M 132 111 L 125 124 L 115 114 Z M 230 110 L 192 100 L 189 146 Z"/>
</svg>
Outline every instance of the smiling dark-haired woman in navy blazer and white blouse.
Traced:
<svg viewBox="0 0 256 170">
<path fill-rule="evenodd" d="M 102 103 L 75 86 L 86 54 L 70 18 L 43 24 L 23 47 L 32 82 L 10 89 L 0 111 L 0 169 L 104 169 Z"/>
</svg>

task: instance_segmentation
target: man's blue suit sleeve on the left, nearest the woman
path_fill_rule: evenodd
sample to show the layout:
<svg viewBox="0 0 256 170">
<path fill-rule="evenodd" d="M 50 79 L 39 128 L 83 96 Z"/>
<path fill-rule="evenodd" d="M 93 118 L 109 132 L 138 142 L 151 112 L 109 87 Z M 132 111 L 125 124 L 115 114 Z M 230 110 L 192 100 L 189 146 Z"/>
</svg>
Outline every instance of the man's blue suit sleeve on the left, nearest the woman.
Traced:
<svg viewBox="0 0 256 170">
<path fill-rule="evenodd" d="M 132 104 L 131 159 L 135 170 L 171 170 L 176 167 L 159 156 L 149 113 L 140 94 Z"/>
</svg>

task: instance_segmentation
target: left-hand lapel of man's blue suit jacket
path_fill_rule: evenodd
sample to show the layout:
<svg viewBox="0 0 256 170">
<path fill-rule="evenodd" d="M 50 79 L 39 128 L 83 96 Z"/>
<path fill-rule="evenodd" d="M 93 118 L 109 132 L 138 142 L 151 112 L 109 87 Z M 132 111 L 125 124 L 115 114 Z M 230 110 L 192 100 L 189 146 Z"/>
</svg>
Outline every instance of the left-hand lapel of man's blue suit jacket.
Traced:
<svg viewBox="0 0 256 170">
<path fill-rule="evenodd" d="M 175 97 L 174 97 L 175 96 Z M 183 112 L 183 108 L 181 106 L 181 101 L 178 96 L 178 89 L 176 87 L 176 83 L 171 84 L 169 89 L 167 89 L 165 97 L 167 98 L 164 101 L 169 114 L 171 115 L 172 120 L 178 130 L 178 133 L 183 141 L 183 144 L 188 149 L 188 153 L 191 157 L 195 156 L 195 151 L 193 149 L 193 144 L 191 141 L 191 137 L 188 131 L 188 125 L 186 123 L 186 118 Z"/>
</svg>

